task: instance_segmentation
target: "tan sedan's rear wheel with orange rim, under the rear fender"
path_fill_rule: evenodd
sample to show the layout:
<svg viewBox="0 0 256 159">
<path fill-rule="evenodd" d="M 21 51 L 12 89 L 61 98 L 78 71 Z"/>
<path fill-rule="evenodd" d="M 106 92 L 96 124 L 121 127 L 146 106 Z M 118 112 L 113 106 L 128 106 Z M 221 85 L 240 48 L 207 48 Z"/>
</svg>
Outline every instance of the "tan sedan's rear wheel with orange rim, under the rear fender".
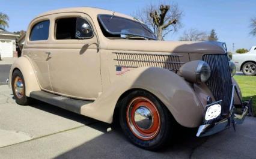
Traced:
<svg viewBox="0 0 256 159">
<path fill-rule="evenodd" d="M 28 105 L 31 98 L 26 97 L 26 86 L 22 73 L 19 70 L 13 72 L 11 77 L 11 87 L 13 89 L 13 95 L 15 97 L 16 103 L 20 105 Z"/>
</svg>

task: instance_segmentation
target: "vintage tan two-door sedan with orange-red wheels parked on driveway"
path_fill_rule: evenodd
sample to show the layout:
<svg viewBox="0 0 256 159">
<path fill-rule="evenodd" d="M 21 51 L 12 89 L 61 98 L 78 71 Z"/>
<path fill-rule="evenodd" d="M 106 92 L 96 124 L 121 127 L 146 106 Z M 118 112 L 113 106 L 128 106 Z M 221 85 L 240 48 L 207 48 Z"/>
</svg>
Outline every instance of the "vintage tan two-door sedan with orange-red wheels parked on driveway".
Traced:
<svg viewBox="0 0 256 159">
<path fill-rule="evenodd" d="M 66 8 L 29 24 L 10 86 L 20 105 L 34 98 L 119 121 L 132 143 L 159 149 L 176 124 L 198 127 L 201 137 L 243 122 L 251 101 L 241 100 L 230 65 L 219 43 L 157 41 L 133 17 Z"/>
</svg>

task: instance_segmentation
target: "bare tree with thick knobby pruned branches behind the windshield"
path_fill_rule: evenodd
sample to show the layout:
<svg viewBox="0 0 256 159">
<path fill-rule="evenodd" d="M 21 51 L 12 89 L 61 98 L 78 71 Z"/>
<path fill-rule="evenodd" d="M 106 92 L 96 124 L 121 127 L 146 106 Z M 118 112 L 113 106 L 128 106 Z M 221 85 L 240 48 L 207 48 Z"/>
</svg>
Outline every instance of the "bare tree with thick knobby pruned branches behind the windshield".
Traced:
<svg viewBox="0 0 256 159">
<path fill-rule="evenodd" d="M 181 27 L 180 19 L 183 11 L 177 4 L 169 5 L 162 3 L 159 5 L 147 5 L 145 8 L 136 11 L 134 17 L 144 22 L 150 29 L 153 29 L 158 40 L 169 34 L 171 31 L 177 31 Z"/>
</svg>

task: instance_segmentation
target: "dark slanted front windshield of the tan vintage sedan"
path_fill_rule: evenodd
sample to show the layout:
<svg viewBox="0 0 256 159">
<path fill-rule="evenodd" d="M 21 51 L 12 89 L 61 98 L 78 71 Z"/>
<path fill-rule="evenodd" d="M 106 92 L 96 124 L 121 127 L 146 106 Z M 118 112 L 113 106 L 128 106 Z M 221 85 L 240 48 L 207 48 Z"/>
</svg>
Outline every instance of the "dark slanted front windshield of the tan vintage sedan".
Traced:
<svg viewBox="0 0 256 159">
<path fill-rule="evenodd" d="M 118 37 L 121 37 L 121 35 L 134 35 L 157 40 L 146 25 L 135 20 L 108 14 L 100 14 L 98 19 L 103 29 L 110 35 L 120 35 Z"/>
</svg>

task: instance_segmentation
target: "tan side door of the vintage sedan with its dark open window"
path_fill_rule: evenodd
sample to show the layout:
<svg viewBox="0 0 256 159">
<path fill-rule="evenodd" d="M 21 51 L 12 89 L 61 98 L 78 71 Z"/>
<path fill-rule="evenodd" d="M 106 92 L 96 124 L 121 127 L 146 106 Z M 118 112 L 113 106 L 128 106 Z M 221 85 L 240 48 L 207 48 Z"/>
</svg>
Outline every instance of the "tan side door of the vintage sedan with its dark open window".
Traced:
<svg viewBox="0 0 256 159">
<path fill-rule="evenodd" d="M 102 85 L 98 40 L 90 17 L 84 13 L 61 13 L 53 19 L 49 60 L 53 92 L 94 100 L 102 91 Z M 91 31 L 85 34 L 82 25 L 90 26 Z"/>
</svg>

